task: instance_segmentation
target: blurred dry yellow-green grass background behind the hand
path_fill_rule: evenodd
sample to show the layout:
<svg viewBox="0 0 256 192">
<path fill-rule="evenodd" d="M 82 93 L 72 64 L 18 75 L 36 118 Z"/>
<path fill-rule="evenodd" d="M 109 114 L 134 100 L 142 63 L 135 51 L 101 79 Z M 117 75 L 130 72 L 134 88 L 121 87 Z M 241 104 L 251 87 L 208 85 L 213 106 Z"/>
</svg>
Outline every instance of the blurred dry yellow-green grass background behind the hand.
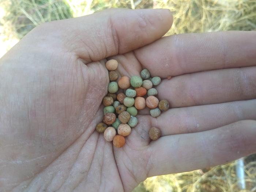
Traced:
<svg viewBox="0 0 256 192">
<path fill-rule="evenodd" d="M 0 57 L 41 23 L 112 7 L 170 9 L 174 23 L 166 35 L 256 30 L 256 0 L 0 0 Z M 203 170 L 150 177 L 133 191 L 256 192 L 256 154 Z"/>
</svg>

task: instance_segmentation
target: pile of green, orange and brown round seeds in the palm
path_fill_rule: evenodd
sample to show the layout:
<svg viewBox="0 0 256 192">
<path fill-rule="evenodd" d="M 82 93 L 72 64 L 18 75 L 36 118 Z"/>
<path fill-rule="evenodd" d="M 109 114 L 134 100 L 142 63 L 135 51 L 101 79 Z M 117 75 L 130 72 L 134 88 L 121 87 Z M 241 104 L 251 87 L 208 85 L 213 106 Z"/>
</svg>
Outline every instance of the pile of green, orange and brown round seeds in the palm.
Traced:
<svg viewBox="0 0 256 192">
<path fill-rule="evenodd" d="M 125 136 L 128 136 L 131 128 L 138 124 L 138 110 L 148 107 L 150 115 L 158 117 L 161 111 L 169 109 L 169 102 L 165 99 L 159 102 L 155 97 L 158 92 L 153 86 L 160 84 L 160 77 L 151 78 L 148 69 L 143 69 L 140 76 L 123 76 L 116 82 L 117 67 L 117 60 L 111 59 L 106 62 L 106 68 L 109 70 L 108 94 L 102 100 L 105 106 L 103 122 L 97 125 L 96 130 L 104 133 L 106 141 L 113 141 L 115 147 L 123 147 Z M 116 94 L 119 88 L 124 91 Z M 157 140 L 160 135 L 161 132 L 156 127 L 148 131 L 148 136 L 152 140 Z"/>
</svg>

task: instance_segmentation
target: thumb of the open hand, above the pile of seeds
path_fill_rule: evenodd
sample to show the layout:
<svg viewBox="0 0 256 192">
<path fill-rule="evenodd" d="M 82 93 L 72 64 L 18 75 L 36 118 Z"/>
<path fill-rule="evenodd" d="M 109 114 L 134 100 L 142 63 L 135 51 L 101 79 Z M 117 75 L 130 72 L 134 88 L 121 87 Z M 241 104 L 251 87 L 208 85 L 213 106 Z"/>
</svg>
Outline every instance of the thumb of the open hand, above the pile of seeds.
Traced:
<svg viewBox="0 0 256 192">
<path fill-rule="evenodd" d="M 91 62 L 147 45 L 161 38 L 172 22 L 167 9 L 110 9 L 38 28 L 41 35 L 54 36 L 50 42 L 55 47 Z"/>
</svg>

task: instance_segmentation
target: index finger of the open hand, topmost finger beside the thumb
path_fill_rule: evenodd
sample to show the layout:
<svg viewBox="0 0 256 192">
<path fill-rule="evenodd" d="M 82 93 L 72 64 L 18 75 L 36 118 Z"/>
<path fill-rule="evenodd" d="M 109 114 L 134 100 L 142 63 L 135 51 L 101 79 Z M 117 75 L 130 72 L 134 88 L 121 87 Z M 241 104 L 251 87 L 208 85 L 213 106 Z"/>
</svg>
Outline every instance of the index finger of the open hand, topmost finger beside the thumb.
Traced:
<svg viewBox="0 0 256 192">
<path fill-rule="evenodd" d="M 256 65 L 256 31 L 226 31 L 163 37 L 134 51 L 153 76 Z"/>
</svg>

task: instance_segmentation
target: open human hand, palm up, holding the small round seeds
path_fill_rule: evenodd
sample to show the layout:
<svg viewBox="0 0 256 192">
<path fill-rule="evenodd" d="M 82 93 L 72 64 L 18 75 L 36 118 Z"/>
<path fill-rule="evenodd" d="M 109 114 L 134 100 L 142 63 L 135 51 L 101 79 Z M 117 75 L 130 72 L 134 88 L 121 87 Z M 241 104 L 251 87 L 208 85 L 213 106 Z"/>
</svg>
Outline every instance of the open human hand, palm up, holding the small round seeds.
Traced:
<svg viewBox="0 0 256 192">
<path fill-rule="evenodd" d="M 5 54 L 0 191 L 131 191 L 255 153 L 256 32 L 161 38 L 171 24 L 168 10 L 103 11 L 39 26 Z M 95 132 L 110 56 L 121 76 L 161 76 L 158 97 L 173 108 L 141 112 L 123 148 Z M 162 138 L 150 142 L 153 126 Z"/>
</svg>

